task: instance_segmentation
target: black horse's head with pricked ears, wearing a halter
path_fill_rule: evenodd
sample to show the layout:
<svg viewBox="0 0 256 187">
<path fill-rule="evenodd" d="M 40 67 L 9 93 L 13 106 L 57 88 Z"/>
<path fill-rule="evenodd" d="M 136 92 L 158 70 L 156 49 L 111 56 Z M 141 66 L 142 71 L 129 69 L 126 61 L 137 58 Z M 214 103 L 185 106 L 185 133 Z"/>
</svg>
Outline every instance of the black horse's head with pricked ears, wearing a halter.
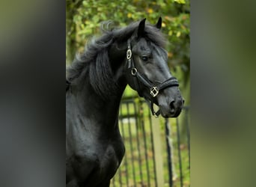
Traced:
<svg viewBox="0 0 256 187">
<path fill-rule="evenodd" d="M 163 46 L 157 43 L 162 19 L 156 25 L 145 25 L 146 19 L 127 41 L 126 80 L 128 85 L 150 102 L 151 111 L 162 117 L 177 117 L 183 108 L 183 97 L 177 79 L 171 75 Z M 150 31 L 150 32 L 149 32 Z M 151 36 L 150 36 L 151 34 Z M 159 111 L 153 111 L 153 103 Z"/>
</svg>

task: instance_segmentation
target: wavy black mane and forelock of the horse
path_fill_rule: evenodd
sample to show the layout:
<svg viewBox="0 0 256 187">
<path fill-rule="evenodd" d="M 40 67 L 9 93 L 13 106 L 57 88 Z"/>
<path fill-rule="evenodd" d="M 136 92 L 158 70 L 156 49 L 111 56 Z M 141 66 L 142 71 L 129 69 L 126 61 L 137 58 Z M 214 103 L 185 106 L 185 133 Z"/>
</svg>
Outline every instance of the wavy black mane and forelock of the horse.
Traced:
<svg viewBox="0 0 256 187">
<path fill-rule="evenodd" d="M 124 42 L 132 37 L 138 28 L 138 22 L 133 22 L 124 28 L 110 29 L 110 22 L 103 22 L 101 31 L 103 35 L 88 43 L 85 52 L 76 55 L 73 64 L 67 68 L 67 82 L 70 85 L 89 79 L 94 91 L 100 96 L 106 97 L 112 94 L 118 87 L 113 79 L 109 62 L 108 49 L 113 42 Z M 145 25 L 144 37 L 156 46 L 164 47 L 165 39 L 162 33 L 153 25 Z"/>
</svg>

